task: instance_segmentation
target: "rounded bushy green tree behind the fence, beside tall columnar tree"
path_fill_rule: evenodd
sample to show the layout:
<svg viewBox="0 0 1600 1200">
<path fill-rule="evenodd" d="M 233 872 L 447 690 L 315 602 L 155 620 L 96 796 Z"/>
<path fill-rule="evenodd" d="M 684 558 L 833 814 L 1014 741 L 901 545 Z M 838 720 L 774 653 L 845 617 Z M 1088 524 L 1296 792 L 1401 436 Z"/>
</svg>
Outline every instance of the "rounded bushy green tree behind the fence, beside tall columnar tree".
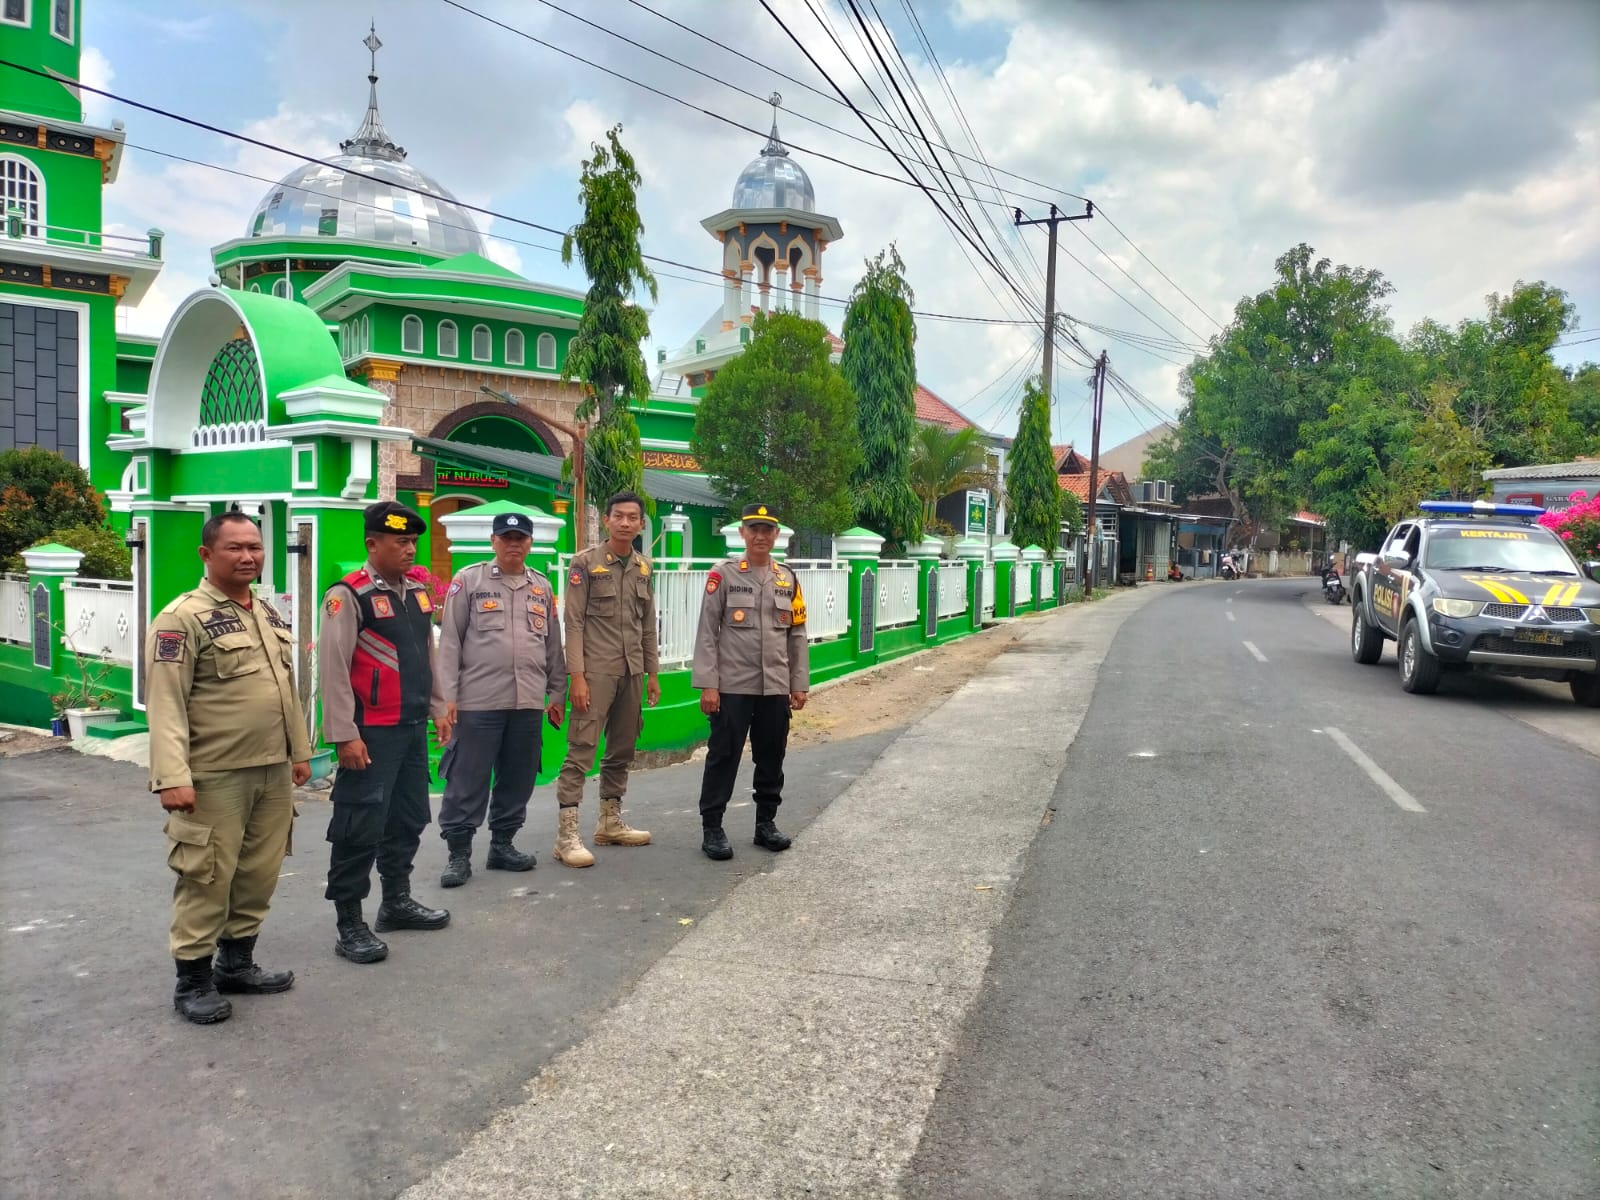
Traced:
<svg viewBox="0 0 1600 1200">
<path fill-rule="evenodd" d="M 760 501 L 794 528 L 848 528 L 856 400 L 829 362 L 827 330 L 776 312 L 757 314 L 750 333 L 694 411 L 694 453 L 734 510 Z"/>
</svg>

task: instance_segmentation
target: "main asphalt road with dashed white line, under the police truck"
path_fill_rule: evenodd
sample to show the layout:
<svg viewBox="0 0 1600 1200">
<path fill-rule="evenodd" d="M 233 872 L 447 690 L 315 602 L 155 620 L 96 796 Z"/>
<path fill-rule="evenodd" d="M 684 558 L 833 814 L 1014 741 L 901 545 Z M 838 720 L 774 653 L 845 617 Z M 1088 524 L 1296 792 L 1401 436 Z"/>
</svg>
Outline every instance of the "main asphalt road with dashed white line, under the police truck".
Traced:
<svg viewBox="0 0 1600 1200">
<path fill-rule="evenodd" d="M 904 1197 L 1600 1195 L 1600 758 L 1307 590 L 1123 626 Z"/>
</svg>

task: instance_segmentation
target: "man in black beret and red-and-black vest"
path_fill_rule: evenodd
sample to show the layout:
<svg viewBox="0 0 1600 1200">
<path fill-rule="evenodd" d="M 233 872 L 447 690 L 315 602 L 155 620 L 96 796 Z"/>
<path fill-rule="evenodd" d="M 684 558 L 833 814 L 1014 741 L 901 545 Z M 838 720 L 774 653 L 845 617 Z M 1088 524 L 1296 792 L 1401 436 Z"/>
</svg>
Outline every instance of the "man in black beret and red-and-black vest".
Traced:
<svg viewBox="0 0 1600 1200">
<path fill-rule="evenodd" d="M 427 720 L 434 691 L 434 597 L 406 578 L 427 523 L 395 501 L 366 507 L 366 566 L 328 589 L 322 603 L 322 731 L 338 747 L 328 822 L 328 899 L 338 915 L 334 950 L 373 963 L 389 947 L 362 917 L 373 862 L 382 883 L 378 933 L 440 930 L 443 909 L 411 898 L 411 864 L 432 816 L 427 800 Z M 450 741 L 443 706 L 432 712 Z"/>
</svg>

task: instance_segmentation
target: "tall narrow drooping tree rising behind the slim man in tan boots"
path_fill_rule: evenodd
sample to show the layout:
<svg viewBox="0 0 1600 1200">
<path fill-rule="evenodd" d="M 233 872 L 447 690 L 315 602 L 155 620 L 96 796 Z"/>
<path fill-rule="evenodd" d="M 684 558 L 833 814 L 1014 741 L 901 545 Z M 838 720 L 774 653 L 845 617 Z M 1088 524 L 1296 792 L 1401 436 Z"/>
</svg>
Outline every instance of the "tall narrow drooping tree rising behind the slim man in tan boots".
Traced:
<svg viewBox="0 0 1600 1200">
<path fill-rule="evenodd" d="M 592 144 L 594 157 L 584 162 L 578 186 L 584 219 L 562 240 L 562 262 L 570 264 L 576 250 L 589 275 L 584 315 L 566 347 L 562 379 L 584 382 L 578 405 L 578 421 L 590 426 L 584 485 L 597 509 L 613 493 L 645 491 L 638 421 L 629 406 L 643 406 L 650 398 L 650 371 L 638 349 L 650 336 L 650 318 L 634 298 L 643 290 L 656 299 L 656 277 L 638 245 L 645 232 L 638 216 L 642 179 L 634 157 L 622 149 L 621 131 L 614 125 L 606 131 L 606 146 Z M 571 475 L 570 459 L 565 474 Z"/>
</svg>

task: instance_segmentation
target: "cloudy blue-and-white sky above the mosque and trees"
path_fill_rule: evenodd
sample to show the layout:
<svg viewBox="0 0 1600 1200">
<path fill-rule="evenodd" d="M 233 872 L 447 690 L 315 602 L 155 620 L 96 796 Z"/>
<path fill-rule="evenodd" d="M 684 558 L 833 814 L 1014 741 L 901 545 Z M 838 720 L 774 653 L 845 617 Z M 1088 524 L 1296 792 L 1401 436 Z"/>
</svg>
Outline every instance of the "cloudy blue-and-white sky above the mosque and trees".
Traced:
<svg viewBox="0 0 1600 1200">
<path fill-rule="evenodd" d="M 1482 315 L 1485 294 L 1518 278 L 1568 290 L 1584 330 L 1570 341 L 1600 326 L 1594 0 L 910 0 L 931 53 L 904 0 L 856 0 L 896 70 L 890 37 L 904 54 L 931 114 L 901 88 L 926 134 L 1010 173 L 990 178 L 962 160 L 968 181 L 946 160 L 954 186 L 974 197 L 968 237 L 1010 283 L 922 190 L 883 178 L 904 176 L 824 78 L 870 115 L 882 110 L 867 85 L 894 104 L 850 0 L 768 3 L 818 66 L 758 0 L 85 0 L 85 82 L 328 155 L 366 102 L 371 18 L 384 42 L 384 120 L 411 163 L 469 203 L 566 229 L 589 142 L 621 122 L 645 176 L 646 253 L 704 269 L 718 254 L 699 221 L 728 206 L 763 142 L 738 126 L 765 130 L 758 98 L 778 90 L 784 138 L 819 210 L 845 229 L 824 262 L 824 293 L 848 296 L 862 258 L 894 242 L 920 310 L 1011 322 L 918 322 L 923 382 L 1002 434 L 1016 429 L 1024 373 L 1040 370 L 1038 325 L 1024 323 L 1016 291 L 1035 304 L 1043 294 L 1045 232 L 1018 234 L 1011 205 L 1082 211 L 1078 195 L 1102 210 L 1104 219 L 1062 226 L 1058 309 L 1160 411 L 1179 403 L 1189 354 L 1176 347 L 1211 336 L 1296 242 L 1382 270 L 1400 330 L 1424 315 Z M 109 192 L 107 222 L 168 230 L 168 267 L 128 322 L 158 333 L 205 285 L 210 246 L 242 235 L 296 160 L 88 101 L 90 120 L 120 117 L 141 147 Z M 894 120 L 909 125 L 899 110 Z M 878 130 L 909 155 L 894 130 Z M 941 203 L 955 211 L 949 197 Z M 557 237 L 485 222 L 501 262 L 584 286 L 554 253 Z M 659 270 L 651 363 L 720 304 L 709 277 Z M 824 315 L 837 330 L 840 309 Z M 1558 354 L 1600 358 L 1600 341 Z M 1085 378 L 1058 358 L 1059 440 L 1088 443 Z M 1138 400 L 1109 397 L 1106 445 L 1155 419 Z"/>
</svg>

